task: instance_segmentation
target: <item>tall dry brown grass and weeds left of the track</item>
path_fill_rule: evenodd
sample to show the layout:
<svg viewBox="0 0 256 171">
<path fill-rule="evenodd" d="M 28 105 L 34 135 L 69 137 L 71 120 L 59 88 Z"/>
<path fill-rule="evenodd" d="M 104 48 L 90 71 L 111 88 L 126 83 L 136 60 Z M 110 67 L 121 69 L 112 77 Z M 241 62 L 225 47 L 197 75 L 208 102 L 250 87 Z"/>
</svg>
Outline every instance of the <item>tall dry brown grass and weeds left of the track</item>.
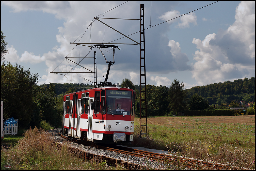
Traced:
<svg viewBox="0 0 256 171">
<path fill-rule="evenodd" d="M 67 144 L 58 150 L 57 144 L 49 139 L 43 129 L 29 129 L 16 146 L 1 149 L 1 170 L 4 165 L 22 170 L 123 170 L 121 165 L 108 166 L 105 161 L 85 161 L 70 150 Z"/>
</svg>

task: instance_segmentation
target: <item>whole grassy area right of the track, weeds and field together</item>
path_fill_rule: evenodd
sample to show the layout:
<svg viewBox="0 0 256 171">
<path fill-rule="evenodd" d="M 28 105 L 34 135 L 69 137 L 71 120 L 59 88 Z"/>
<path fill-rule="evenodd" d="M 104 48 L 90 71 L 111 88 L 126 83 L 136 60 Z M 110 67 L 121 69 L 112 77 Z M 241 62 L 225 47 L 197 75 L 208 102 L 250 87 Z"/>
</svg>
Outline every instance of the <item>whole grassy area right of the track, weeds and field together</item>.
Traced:
<svg viewBox="0 0 256 171">
<path fill-rule="evenodd" d="M 140 118 L 135 118 L 133 146 L 169 149 L 187 157 L 222 163 L 235 162 L 236 150 L 242 150 L 245 153 L 241 160 L 255 162 L 255 115 L 151 117 L 147 118 L 147 124 L 150 139 L 139 140 Z M 179 147 L 175 143 L 180 143 Z"/>
</svg>

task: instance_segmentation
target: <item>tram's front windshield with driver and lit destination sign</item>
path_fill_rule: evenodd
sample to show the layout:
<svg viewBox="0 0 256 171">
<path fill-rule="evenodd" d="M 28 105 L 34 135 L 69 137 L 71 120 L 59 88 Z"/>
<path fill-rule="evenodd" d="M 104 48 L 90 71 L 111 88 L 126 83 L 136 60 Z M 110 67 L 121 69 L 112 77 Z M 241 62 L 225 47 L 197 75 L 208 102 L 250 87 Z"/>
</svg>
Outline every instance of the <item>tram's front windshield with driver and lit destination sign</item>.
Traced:
<svg viewBox="0 0 256 171">
<path fill-rule="evenodd" d="M 106 90 L 107 114 L 130 115 L 131 91 Z"/>
</svg>

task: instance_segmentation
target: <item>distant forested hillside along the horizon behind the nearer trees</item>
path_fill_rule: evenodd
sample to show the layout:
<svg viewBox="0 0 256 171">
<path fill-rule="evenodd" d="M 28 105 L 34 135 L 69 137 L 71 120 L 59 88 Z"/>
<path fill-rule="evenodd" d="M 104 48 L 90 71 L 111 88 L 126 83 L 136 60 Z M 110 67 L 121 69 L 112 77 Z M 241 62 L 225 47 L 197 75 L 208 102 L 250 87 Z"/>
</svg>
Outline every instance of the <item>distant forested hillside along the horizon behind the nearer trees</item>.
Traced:
<svg viewBox="0 0 256 171">
<path fill-rule="evenodd" d="M 51 83 L 55 86 L 55 91 L 57 96 L 59 94 L 64 95 L 66 91 L 73 88 L 73 91 L 81 91 L 83 89 L 87 88 L 93 88 L 93 85 L 91 84 L 84 84 L 84 83 Z M 148 84 L 150 87 L 152 85 Z M 41 84 L 40 87 L 44 88 L 45 90 L 50 86 L 50 84 Z M 124 87 L 121 84 L 122 87 Z M 153 86 L 153 87 L 159 87 L 159 86 Z M 169 88 L 165 87 L 165 91 L 169 91 Z M 133 89 L 140 92 L 140 86 L 135 85 Z M 143 87 L 144 88 L 144 87 Z M 154 91 L 158 91 L 158 89 L 154 89 Z M 148 97 L 152 97 L 151 95 L 152 91 L 148 91 Z M 244 79 L 238 79 L 232 81 L 225 81 L 225 82 L 219 82 L 219 83 L 213 83 L 208 84 L 206 86 L 196 86 L 191 89 L 185 90 L 187 94 L 187 99 L 190 99 L 191 96 L 194 94 L 198 94 L 205 98 L 209 102 L 209 105 L 226 105 L 231 101 L 237 101 L 240 103 L 240 101 L 243 103 L 242 105 L 250 102 L 255 102 L 255 77 L 251 77 L 250 79 L 244 78 Z M 153 93 L 153 92 L 152 92 Z M 156 93 L 156 92 L 154 92 Z M 166 97 L 168 98 L 168 97 Z M 151 99 L 148 100 L 148 102 Z"/>
</svg>

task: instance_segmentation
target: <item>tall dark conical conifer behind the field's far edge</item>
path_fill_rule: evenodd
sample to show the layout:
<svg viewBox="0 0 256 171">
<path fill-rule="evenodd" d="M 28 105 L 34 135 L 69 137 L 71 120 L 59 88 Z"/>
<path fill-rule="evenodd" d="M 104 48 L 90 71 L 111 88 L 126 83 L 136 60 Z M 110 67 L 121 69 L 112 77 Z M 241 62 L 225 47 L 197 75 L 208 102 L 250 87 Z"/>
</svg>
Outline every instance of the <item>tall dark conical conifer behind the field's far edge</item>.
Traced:
<svg viewBox="0 0 256 171">
<path fill-rule="evenodd" d="M 183 84 L 183 81 L 180 83 L 179 80 L 175 79 L 170 85 L 168 92 L 169 105 L 168 108 L 172 112 L 183 111 L 186 107 L 186 87 Z"/>
</svg>

